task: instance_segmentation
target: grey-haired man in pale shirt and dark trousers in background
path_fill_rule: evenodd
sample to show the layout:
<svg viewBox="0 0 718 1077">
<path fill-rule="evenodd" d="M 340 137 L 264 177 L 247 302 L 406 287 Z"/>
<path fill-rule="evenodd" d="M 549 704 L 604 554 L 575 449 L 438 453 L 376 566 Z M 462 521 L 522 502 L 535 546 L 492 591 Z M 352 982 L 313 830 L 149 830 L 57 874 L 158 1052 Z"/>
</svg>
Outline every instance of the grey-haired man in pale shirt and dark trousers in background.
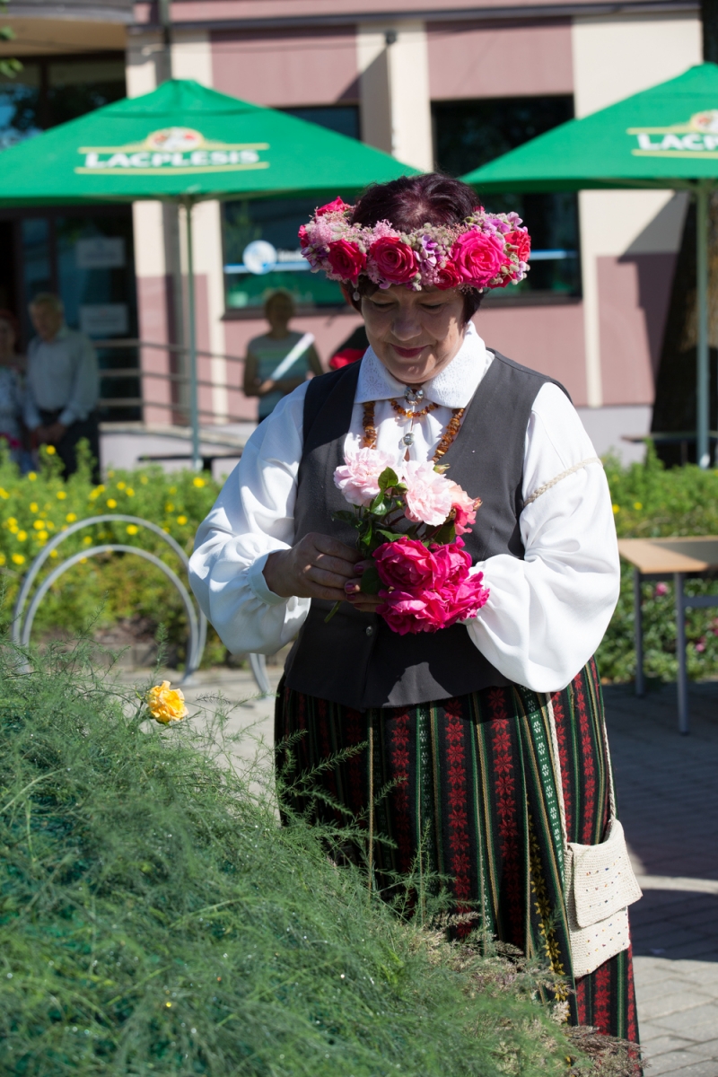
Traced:
<svg viewBox="0 0 718 1077">
<path fill-rule="evenodd" d="M 65 324 L 62 300 L 41 292 L 30 304 L 30 319 L 38 334 L 30 340 L 27 362 L 25 422 L 33 448 L 54 445 L 65 475 L 78 470 L 76 446 L 89 442 L 99 481 L 99 375 L 95 349 L 84 333 Z"/>
</svg>

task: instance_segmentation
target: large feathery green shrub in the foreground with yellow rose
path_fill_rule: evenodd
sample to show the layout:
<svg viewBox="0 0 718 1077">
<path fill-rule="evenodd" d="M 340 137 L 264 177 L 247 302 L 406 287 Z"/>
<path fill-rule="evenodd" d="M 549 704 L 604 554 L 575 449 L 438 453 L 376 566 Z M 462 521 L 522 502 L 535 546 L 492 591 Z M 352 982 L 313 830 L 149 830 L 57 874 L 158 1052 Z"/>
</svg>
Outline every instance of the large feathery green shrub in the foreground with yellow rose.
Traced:
<svg viewBox="0 0 718 1077">
<path fill-rule="evenodd" d="M 568 1073 L 529 973 L 398 921 L 231 745 L 51 658 L 0 654 L 0 1074 Z"/>
</svg>

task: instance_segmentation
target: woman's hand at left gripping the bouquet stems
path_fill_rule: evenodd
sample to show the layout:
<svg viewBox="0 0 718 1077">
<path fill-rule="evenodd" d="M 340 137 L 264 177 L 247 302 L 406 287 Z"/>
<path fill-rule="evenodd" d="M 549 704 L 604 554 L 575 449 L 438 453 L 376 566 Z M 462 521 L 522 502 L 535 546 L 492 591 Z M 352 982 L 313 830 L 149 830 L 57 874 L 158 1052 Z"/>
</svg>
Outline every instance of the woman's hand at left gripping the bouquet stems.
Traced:
<svg viewBox="0 0 718 1077">
<path fill-rule="evenodd" d="M 362 556 L 329 535 L 310 532 L 291 549 L 270 554 L 264 567 L 267 587 L 280 598 L 341 602 Z"/>
</svg>

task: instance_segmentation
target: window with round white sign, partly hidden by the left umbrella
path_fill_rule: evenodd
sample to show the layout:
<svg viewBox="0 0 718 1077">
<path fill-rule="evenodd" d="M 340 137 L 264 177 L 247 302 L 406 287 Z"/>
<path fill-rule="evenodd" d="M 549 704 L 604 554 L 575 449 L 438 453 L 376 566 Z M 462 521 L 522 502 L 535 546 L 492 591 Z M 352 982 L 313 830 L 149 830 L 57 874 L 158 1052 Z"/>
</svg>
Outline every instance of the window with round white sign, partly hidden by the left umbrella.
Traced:
<svg viewBox="0 0 718 1077">
<path fill-rule="evenodd" d="M 360 137 L 360 110 L 355 104 L 282 109 L 330 130 Z M 297 307 L 309 312 L 343 307 L 336 281 L 313 274 L 299 253 L 297 232 L 316 207 L 315 198 L 244 198 L 225 202 L 222 215 L 225 304 L 228 311 L 256 314 L 267 296 L 283 288 Z"/>
</svg>

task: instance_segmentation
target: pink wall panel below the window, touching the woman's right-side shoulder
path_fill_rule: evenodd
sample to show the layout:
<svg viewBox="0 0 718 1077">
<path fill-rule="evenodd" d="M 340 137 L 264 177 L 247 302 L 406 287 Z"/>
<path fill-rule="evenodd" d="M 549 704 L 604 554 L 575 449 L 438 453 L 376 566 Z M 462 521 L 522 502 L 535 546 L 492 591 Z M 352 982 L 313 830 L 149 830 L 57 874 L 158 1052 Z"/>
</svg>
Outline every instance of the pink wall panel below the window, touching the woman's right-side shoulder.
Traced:
<svg viewBox="0 0 718 1077">
<path fill-rule="evenodd" d="M 581 304 L 484 307 L 474 321 L 488 348 L 555 378 L 576 406 L 587 403 Z"/>
</svg>

